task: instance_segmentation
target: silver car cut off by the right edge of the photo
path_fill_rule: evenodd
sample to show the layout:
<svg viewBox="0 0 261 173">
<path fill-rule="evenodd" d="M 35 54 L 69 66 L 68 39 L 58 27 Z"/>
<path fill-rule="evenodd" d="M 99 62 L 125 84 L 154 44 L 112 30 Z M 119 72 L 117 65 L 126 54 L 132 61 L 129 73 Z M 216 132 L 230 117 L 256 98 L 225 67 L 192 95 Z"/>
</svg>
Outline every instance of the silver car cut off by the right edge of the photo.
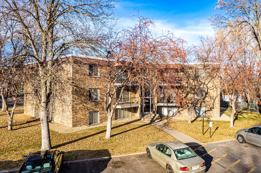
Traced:
<svg viewBox="0 0 261 173">
<path fill-rule="evenodd" d="M 239 143 L 249 143 L 261 147 L 261 125 L 250 127 L 248 129 L 240 129 L 236 132 L 235 138 Z"/>
</svg>

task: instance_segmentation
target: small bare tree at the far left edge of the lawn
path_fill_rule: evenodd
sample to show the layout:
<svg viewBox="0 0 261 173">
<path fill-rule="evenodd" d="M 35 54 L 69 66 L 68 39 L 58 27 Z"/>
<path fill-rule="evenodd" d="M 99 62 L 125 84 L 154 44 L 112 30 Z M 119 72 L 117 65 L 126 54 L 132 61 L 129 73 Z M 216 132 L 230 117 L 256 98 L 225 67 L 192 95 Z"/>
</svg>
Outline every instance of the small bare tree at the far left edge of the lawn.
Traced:
<svg viewBox="0 0 261 173">
<path fill-rule="evenodd" d="M 0 25 L 0 91 L 3 102 L 2 110 L 7 113 L 9 119 L 8 130 L 12 130 L 14 111 L 19 103 L 17 91 L 22 88 L 25 69 L 23 65 L 28 45 L 16 31 L 16 22 L 10 21 L 4 16 L 1 18 Z M 8 110 L 7 101 L 14 102 L 11 114 Z"/>
</svg>

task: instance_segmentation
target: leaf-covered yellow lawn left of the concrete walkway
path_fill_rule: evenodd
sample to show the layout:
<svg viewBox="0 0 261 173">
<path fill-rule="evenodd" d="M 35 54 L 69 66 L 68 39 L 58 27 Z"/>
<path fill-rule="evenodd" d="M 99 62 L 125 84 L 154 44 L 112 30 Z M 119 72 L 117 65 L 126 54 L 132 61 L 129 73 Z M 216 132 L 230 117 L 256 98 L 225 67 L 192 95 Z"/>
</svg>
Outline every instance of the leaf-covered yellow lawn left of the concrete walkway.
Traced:
<svg viewBox="0 0 261 173">
<path fill-rule="evenodd" d="M 128 123 L 117 122 L 112 125 L 110 139 L 105 139 L 106 126 L 70 134 L 50 130 L 52 147 L 65 151 L 64 160 L 69 161 L 143 152 L 147 143 L 176 140 L 136 117 Z M 15 114 L 14 130 L 7 130 L 7 124 L 7 115 L 0 114 L 0 170 L 19 168 L 23 155 L 41 148 L 40 121 L 32 122 L 30 116 Z"/>
</svg>

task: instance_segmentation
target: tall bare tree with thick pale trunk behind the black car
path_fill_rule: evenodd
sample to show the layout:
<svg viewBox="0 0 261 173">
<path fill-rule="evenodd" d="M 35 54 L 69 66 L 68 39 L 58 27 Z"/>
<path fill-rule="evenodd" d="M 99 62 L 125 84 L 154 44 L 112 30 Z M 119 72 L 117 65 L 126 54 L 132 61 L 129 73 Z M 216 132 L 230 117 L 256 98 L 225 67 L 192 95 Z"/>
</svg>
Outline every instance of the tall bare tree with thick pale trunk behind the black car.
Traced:
<svg viewBox="0 0 261 173">
<path fill-rule="evenodd" d="M 17 30 L 30 43 L 28 56 L 36 63 L 39 79 L 41 150 L 51 148 L 48 105 L 55 62 L 61 55 L 99 50 L 105 30 L 113 26 L 115 1 L 4 0 L 3 16 L 17 21 Z"/>
</svg>

